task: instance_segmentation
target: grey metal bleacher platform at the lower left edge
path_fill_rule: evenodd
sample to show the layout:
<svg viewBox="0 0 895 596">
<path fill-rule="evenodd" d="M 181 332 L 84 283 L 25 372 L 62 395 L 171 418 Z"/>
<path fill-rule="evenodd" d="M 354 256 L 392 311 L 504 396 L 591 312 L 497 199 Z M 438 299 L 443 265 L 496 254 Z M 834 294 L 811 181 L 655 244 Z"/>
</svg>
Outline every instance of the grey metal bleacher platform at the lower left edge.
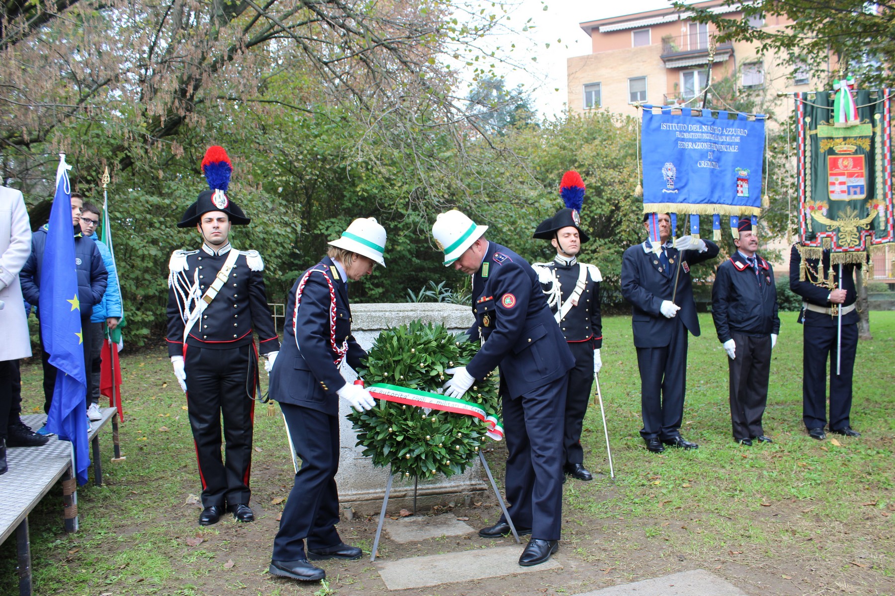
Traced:
<svg viewBox="0 0 895 596">
<path fill-rule="evenodd" d="M 91 460 L 96 484 L 103 483 L 102 462 L 99 456 L 99 431 L 112 422 L 112 441 L 115 457 L 122 461 L 118 441 L 118 411 L 114 407 L 100 408 L 103 417 L 90 423 L 88 438 L 92 445 Z M 44 414 L 21 416 L 31 428 L 39 428 L 47 421 Z M 9 470 L 0 475 L 0 544 L 16 533 L 19 558 L 19 594 L 31 593 L 31 545 L 28 515 L 54 486 L 63 483 L 63 519 L 66 532 L 78 530 L 77 483 L 72 470 L 72 443 L 60 441 L 55 435 L 42 447 L 14 447 L 6 450 Z"/>
</svg>

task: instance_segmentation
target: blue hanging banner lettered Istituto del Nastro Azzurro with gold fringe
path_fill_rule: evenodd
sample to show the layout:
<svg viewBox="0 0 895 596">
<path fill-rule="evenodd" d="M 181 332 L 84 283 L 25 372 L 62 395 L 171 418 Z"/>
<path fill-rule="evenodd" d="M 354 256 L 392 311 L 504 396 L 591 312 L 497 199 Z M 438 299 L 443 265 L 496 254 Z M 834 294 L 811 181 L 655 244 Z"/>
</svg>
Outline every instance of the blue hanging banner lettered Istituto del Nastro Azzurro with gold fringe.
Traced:
<svg viewBox="0 0 895 596">
<path fill-rule="evenodd" d="M 761 212 L 764 116 L 716 113 L 644 105 L 644 213 Z"/>
</svg>

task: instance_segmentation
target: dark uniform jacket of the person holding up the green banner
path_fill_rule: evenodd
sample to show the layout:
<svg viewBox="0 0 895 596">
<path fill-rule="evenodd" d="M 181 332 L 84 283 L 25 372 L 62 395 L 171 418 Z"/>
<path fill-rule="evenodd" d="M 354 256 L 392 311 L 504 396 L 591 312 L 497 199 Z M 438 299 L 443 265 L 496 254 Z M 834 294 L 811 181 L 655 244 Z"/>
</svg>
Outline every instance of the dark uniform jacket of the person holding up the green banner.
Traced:
<svg viewBox="0 0 895 596">
<path fill-rule="evenodd" d="M 823 306 L 830 308 L 833 304 L 827 299 L 830 296 L 830 288 L 825 286 L 817 286 L 812 281 L 817 281 L 820 275 L 823 279 L 827 279 L 832 273 L 834 287 L 846 291 L 845 302 L 841 306 L 849 306 L 855 304 L 857 300 L 857 291 L 855 290 L 855 265 L 842 265 L 842 281 L 840 285 L 839 265 L 830 265 L 830 251 L 823 251 L 823 259 L 805 259 L 808 275 L 805 280 L 799 280 L 799 271 L 802 268 L 802 255 L 798 252 L 798 245 L 792 245 L 789 251 L 789 289 L 796 292 L 805 302 L 815 306 Z M 842 324 L 850 324 L 858 322 L 857 308 L 850 313 L 842 315 Z M 802 309 L 798 316 L 799 323 L 813 327 L 835 327 L 838 325 L 839 317 L 825 315 L 824 313 L 815 313 L 811 310 Z"/>
</svg>

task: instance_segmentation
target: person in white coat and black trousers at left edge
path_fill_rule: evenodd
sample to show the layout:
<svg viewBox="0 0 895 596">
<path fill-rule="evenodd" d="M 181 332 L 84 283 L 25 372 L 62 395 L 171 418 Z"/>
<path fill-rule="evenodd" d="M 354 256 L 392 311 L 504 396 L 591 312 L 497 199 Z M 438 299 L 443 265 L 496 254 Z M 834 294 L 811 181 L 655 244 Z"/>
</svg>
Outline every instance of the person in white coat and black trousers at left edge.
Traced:
<svg viewBox="0 0 895 596">
<path fill-rule="evenodd" d="M 19 271 L 31 253 L 31 225 L 21 191 L 0 187 L 0 474 L 6 472 L 6 429 L 19 358 L 31 339 Z"/>
</svg>

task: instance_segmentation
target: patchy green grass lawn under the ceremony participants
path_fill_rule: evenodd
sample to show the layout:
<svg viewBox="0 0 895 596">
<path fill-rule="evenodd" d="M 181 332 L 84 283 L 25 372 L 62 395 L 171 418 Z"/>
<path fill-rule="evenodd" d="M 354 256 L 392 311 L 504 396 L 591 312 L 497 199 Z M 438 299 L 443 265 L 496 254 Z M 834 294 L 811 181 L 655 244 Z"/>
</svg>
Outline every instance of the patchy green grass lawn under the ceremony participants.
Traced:
<svg viewBox="0 0 895 596">
<path fill-rule="evenodd" d="M 616 478 L 609 479 L 599 408 L 589 409 L 585 464 L 601 474 L 565 485 L 558 572 L 443 584 L 403 594 L 554 594 L 702 567 L 762 594 L 895 594 L 895 313 L 871 314 L 874 339 L 860 342 L 852 426 L 864 436 L 807 437 L 801 422 L 802 328 L 795 313 L 771 364 L 764 429 L 772 445 L 740 447 L 730 435 L 727 362 L 709 315 L 690 338 L 684 428 L 696 451 L 644 449 L 640 388 L 629 317 L 604 321 L 602 397 Z M 196 524 L 200 492 L 183 393 L 162 348 L 124 352 L 122 464 L 106 484 L 81 487 L 81 531 L 62 531 L 61 488 L 30 516 L 35 593 L 384 594 L 367 558 L 325 562 L 330 582 L 298 585 L 267 575 L 277 513 L 292 485 L 292 462 L 277 407 L 255 419 L 252 507 L 259 520 Z M 42 405 L 40 365 L 22 367 L 24 407 Z M 266 385 L 266 381 L 262 381 Z M 272 414 L 272 416 L 268 416 Z M 512 432 L 512 429 L 507 429 Z M 833 437 L 836 441 L 833 441 Z M 492 467 L 500 472 L 500 451 Z M 501 474 L 502 475 L 502 474 Z M 493 499 L 492 499 L 493 500 Z M 455 509 L 471 525 L 493 522 L 497 507 Z M 375 520 L 339 525 L 345 541 L 369 549 Z M 384 539 L 385 560 L 488 546 L 478 537 L 399 545 Z M 17 593 L 15 541 L 0 546 L 0 593 Z"/>
</svg>

